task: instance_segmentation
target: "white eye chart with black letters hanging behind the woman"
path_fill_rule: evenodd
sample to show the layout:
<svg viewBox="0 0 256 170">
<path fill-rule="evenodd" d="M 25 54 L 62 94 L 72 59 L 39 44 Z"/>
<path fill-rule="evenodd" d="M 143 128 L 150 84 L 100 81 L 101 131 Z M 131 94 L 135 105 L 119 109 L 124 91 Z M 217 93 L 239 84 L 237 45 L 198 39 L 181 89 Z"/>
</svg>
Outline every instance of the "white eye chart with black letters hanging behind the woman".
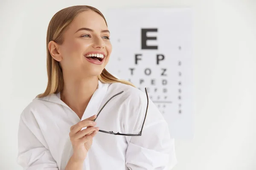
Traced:
<svg viewBox="0 0 256 170">
<path fill-rule="evenodd" d="M 170 135 L 193 136 L 192 11 L 119 8 L 106 15 L 113 51 L 106 69 L 145 91 Z"/>
</svg>

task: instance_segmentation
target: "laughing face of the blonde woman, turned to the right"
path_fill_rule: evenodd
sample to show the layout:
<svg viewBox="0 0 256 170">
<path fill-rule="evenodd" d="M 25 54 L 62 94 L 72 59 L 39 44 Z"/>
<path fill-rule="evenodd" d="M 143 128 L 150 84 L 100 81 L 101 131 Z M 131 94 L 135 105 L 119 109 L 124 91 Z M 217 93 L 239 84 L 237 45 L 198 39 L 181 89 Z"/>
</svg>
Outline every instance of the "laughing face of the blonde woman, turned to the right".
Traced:
<svg viewBox="0 0 256 170">
<path fill-rule="evenodd" d="M 100 75 L 112 51 L 105 20 L 94 11 L 81 12 L 63 36 L 59 51 L 64 74 L 73 77 Z"/>
</svg>

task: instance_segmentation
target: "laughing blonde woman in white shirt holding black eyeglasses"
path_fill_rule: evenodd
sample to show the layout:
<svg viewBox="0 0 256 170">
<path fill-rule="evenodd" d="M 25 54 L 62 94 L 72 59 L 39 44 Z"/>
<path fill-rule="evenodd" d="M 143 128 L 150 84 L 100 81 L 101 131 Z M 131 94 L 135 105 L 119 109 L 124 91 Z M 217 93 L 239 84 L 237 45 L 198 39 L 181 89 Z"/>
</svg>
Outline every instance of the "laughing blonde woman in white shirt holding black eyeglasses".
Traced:
<svg viewBox="0 0 256 170">
<path fill-rule="evenodd" d="M 91 6 L 52 17 L 47 89 L 20 116 L 17 161 L 24 169 L 163 170 L 176 163 L 155 105 L 105 70 L 109 37 L 104 16 Z"/>
</svg>

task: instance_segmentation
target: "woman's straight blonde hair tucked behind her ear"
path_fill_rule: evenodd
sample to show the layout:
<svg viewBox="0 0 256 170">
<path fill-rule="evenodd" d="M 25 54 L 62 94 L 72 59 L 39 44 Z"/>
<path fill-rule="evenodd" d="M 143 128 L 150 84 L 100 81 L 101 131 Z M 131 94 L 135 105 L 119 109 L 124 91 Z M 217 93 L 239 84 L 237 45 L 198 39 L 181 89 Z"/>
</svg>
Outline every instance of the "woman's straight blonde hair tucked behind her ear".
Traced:
<svg viewBox="0 0 256 170">
<path fill-rule="evenodd" d="M 103 14 L 96 8 L 92 6 L 70 6 L 68 8 L 61 9 L 58 11 L 50 20 L 49 26 L 47 29 L 47 75 L 48 75 L 48 84 L 45 92 L 43 94 L 38 94 L 37 97 L 44 97 L 49 94 L 57 94 L 63 90 L 64 80 L 61 65 L 58 61 L 52 58 L 48 44 L 50 41 L 55 41 L 58 44 L 63 43 L 63 33 L 68 28 L 68 26 L 73 22 L 75 17 L 83 12 L 92 10 L 98 13 L 105 20 Z M 108 25 L 107 25 L 108 26 Z M 112 74 L 110 74 L 105 68 L 102 73 L 98 76 L 99 80 L 103 83 L 114 83 L 120 82 L 126 85 L 134 86 L 131 82 L 117 79 Z M 135 86 L 134 86 L 135 87 Z"/>
</svg>

